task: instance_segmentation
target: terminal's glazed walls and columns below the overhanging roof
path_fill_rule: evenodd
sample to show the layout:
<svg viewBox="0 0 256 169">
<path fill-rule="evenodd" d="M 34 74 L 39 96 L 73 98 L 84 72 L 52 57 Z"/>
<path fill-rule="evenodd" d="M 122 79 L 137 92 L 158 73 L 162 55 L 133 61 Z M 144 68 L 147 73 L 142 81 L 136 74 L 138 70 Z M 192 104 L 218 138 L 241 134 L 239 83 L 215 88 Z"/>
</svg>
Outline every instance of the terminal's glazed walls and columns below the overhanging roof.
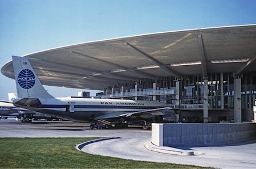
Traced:
<svg viewBox="0 0 256 169">
<path fill-rule="evenodd" d="M 214 73 L 207 78 L 200 74 L 162 77 L 156 82 L 141 80 L 134 86 L 106 88 L 101 98 L 164 102 L 175 109 L 181 122 L 234 122 L 235 118 L 251 122 L 255 82 L 255 75 L 249 73 L 242 77 L 232 73 Z"/>
</svg>

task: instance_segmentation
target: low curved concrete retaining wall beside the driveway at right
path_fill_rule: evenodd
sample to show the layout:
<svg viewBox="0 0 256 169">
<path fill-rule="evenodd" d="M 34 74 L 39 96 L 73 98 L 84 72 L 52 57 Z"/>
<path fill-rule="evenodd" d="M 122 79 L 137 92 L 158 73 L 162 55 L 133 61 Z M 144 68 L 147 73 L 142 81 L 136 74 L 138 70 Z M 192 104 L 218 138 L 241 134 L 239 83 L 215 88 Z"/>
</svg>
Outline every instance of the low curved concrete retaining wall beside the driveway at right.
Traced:
<svg viewBox="0 0 256 169">
<path fill-rule="evenodd" d="M 156 146 L 216 146 L 256 138 L 256 123 L 152 124 Z"/>
</svg>

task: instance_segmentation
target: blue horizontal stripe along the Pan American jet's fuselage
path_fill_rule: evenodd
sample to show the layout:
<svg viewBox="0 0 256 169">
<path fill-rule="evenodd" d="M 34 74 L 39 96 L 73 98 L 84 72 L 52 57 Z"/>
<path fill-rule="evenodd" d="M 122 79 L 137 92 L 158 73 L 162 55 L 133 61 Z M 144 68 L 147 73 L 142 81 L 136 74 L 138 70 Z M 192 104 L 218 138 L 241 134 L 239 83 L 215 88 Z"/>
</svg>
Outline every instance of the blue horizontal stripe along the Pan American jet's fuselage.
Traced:
<svg viewBox="0 0 256 169">
<path fill-rule="evenodd" d="M 42 104 L 39 108 L 66 108 L 65 104 Z M 121 109 L 156 109 L 156 106 L 138 106 L 138 105 L 75 105 L 75 108 L 121 108 Z"/>
</svg>

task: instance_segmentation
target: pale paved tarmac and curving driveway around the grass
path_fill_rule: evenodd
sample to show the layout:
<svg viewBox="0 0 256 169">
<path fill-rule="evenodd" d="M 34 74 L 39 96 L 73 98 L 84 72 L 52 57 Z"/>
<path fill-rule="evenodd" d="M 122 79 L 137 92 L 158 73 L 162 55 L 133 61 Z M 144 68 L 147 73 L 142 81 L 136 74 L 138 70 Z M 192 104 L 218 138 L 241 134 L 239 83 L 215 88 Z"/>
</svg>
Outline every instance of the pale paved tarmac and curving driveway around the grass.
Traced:
<svg viewBox="0 0 256 169">
<path fill-rule="evenodd" d="M 124 159 L 192 164 L 216 168 L 256 168 L 256 140 L 237 145 L 214 147 L 177 147 L 195 155 L 170 155 L 145 148 L 151 144 L 151 131 L 142 128 L 91 130 L 89 124 L 71 121 L 21 123 L 0 120 L 0 137 L 121 137 L 90 143 L 82 151 Z M 201 154 L 201 155 L 199 155 Z"/>
</svg>

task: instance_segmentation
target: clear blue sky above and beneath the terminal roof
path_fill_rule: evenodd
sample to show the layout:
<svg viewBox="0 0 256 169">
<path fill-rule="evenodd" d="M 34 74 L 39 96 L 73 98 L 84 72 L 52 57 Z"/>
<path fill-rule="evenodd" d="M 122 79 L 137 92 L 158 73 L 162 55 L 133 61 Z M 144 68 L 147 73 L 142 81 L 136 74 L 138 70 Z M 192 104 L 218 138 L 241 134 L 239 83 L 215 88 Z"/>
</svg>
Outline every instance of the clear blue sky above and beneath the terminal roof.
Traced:
<svg viewBox="0 0 256 169">
<path fill-rule="evenodd" d="M 12 55 L 86 41 L 255 24 L 255 7 L 254 0 L 0 0 L 0 66 L 10 61 Z M 76 96 L 81 91 L 46 88 L 57 97 Z M 0 99 L 7 100 L 8 92 L 16 92 L 15 81 L 0 74 Z"/>
</svg>

